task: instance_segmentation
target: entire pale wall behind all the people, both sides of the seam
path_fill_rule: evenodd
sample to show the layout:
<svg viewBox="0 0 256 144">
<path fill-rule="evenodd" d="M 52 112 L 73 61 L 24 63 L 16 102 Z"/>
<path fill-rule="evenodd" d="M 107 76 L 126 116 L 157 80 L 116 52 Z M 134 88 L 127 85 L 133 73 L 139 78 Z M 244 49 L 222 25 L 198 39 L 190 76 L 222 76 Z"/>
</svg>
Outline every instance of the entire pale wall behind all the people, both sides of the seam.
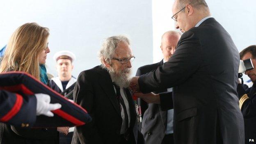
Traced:
<svg viewBox="0 0 256 144">
<path fill-rule="evenodd" d="M 239 51 L 256 43 L 254 0 L 206 0 L 212 16 L 229 32 Z M 75 77 L 98 64 L 97 52 L 104 38 L 126 34 L 139 66 L 162 59 L 160 38 L 174 30 L 173 0 L 0 0 L 0 47 L 14 30 L 27 22 L 50 29 L 46 65 L 57 75 L 53 55 L 70 50 L 77 56 Z M 248 78 L 246 78 L 248 79 Z"/>
</svg>

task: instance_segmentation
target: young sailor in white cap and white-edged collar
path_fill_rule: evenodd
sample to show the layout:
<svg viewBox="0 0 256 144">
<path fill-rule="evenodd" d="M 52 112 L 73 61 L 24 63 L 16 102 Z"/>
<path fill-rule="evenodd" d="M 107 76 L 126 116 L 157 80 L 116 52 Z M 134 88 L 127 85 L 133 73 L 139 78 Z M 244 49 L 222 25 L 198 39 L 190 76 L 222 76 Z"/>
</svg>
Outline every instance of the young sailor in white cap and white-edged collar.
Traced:
<svg viewBox="0 0 256 144">
<path fill-rule="evenodd" d="M 57 62 L 56 68 L 58 76 L 50 80 L 49 86 L 65 96 L 73 90 L 73 84 L 76 82 L 76 79 L 72 76 L 75 55 L 70 51 L 62 50 L 55 53 L 53 58 Z M 73 99 L 73 96 L 70 96 L 69 98 Z"/>
</svg>

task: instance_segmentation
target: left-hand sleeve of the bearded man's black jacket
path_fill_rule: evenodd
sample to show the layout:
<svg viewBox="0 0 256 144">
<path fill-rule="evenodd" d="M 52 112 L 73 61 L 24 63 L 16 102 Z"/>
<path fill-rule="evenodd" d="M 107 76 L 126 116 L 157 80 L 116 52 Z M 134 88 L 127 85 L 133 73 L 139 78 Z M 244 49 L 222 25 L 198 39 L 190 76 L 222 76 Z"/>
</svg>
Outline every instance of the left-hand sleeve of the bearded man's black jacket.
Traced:
<svg viewBox="0 0 256 144">
<path fill-rule="evenodd" d="M 83 126 L 76 127 L 81 144 L 101 144 L 102 139 L 94 123 L 94 92 L 91 76 L 85 72 L 80 73 L 74 88 L 74 101 L 82 106 L 90 114 L 92 121 Z"/>
</svg>

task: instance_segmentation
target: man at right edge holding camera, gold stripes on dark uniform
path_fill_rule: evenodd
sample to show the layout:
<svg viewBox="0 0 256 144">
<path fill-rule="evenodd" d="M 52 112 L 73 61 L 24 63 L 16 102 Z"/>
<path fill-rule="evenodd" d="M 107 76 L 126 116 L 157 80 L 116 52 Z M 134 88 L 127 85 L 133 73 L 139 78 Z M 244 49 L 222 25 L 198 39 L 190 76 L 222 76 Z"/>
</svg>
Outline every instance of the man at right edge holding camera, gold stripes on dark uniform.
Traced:
<svg viewBox="0 0 256 144">
<path fill-rule="evenodd" d="M 253 144 L 256 142 L 256 45 L 249 46 L 240 52 L 240 59 L 251 59 L 254 69 L 245 71 L 253 85 L 244 89 L 238 84 L 239 107 L 245 121 L 245 142 Z M 251 140 L 250 140 L 251 139 Z M 252 140 L 253 139 L 253 140 Z"/>
</svg>

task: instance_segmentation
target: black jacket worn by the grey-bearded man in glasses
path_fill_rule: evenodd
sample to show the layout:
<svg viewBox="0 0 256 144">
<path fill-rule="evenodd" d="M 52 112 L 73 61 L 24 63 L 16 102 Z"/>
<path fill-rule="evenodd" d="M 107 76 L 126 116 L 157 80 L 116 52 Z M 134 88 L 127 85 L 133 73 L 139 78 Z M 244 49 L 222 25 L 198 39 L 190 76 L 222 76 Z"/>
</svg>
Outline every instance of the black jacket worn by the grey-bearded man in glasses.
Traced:
<svg viewBox="0 0 256 144">
<path fill-rule="evenodd" d="M 130 107 L 129 142 L 135 144 L 135 105 L 130 91 L 125 90 Z M 73 96 L 75 103 L 87 110 L 92 121 L 75 128 L 72 144 L 118 144 L 121 140 L 122 118 L 112 79 L 107 70 L 96 66 L 82 71 L 78 76 Z"/>
</svg>

